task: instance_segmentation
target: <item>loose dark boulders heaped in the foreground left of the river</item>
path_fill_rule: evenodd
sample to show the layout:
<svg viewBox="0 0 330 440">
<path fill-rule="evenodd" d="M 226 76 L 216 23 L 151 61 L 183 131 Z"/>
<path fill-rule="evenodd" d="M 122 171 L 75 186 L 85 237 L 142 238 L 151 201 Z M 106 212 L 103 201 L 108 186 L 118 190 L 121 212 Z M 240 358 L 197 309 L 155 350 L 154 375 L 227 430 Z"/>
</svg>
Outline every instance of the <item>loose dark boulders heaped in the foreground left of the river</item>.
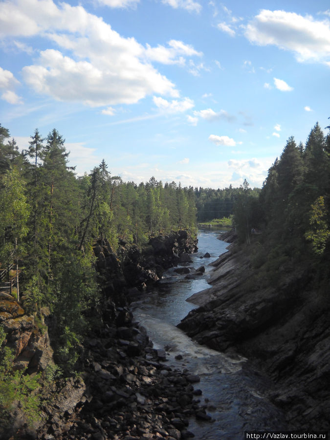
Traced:
<svg viewBox="0 0 330 440">
<path fill-rule="evenodd" d="M 69 382 L 48 405 L 38 439 L 187 439 L 190 417 L 210 419 L 194 390 L 199 377 L 172 370 L 142 327 L 119 321 L 86 340 L 83 381 Z"/>
</svg>

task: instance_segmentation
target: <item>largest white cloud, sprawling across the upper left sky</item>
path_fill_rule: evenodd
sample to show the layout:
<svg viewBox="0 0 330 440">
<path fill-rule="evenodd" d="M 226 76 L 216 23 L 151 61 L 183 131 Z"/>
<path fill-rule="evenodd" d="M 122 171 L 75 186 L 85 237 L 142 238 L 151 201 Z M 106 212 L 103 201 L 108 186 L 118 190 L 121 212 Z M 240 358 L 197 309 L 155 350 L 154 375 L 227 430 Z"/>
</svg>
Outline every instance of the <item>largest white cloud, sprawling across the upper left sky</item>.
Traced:
<svg viewBox="0 0 330 440">
<path fill-rule="evenodd" d="M 175 85 L 151 61 L 182 63 L 184 57 L 201 55 L 176 40 L 167 47 L 145 47 L 84 7 L 53 0 L 0 3 L 0 36 L 38 36 L 57 44 L 58 50 L 41 51 L 22 69 L 25 82 L 54 99 L 92 107 L 132 104 L 155 93 L 178 97 Z"/>
</svg>

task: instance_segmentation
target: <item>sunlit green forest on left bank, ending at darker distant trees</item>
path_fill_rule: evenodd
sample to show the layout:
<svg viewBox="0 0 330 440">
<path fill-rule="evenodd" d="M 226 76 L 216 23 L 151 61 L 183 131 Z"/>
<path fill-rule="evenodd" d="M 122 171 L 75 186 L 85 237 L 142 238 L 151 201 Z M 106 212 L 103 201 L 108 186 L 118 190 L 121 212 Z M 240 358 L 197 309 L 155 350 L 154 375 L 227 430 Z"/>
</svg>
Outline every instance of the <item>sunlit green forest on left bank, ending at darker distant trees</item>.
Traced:
<svg viewBox="0 0 330 440">
<path fill-rule="evenodd" d="M 19 281 L 13 292 L 18 299 L 22 292 L 28 311 L 38 317 L 48 307 L 57 317 L 55 356 L 69 371 L 91 325 L 85 312 L 99 301 L 93 243 L 107 238 L 117 251 L 178 229 L 196 234 L 196 205 L 193 188 L 154 177 L 123 182 L 104 160 L 76 176 L 68 155 L 56 129 L 46 138 L 36 129 L 19 152 L 0 126 L 1 283 L 12 268 Z"/>
</svg>

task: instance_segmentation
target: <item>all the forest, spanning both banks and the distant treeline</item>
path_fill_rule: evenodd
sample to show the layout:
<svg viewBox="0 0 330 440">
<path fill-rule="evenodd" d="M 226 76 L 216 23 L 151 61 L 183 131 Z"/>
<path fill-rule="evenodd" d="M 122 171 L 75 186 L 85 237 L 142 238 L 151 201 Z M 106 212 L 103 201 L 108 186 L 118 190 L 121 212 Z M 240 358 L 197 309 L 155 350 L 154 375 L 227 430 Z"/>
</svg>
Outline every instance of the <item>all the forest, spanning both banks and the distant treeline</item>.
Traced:
<svg viewBox="0 0 330 440">
<path fill-rule="evenodd" d="M 116 252 L 179 229 L 196 234 L 197 221 L 233 215 L 238 241 L 259 269 L 255 283 L 276 284 L 281 273 L 306 264 L 315 288 L 329 290 L 330 135 L 319 124 L 305 145 L 287 140 L 261 189 L 246 180 L 240 188 L 218 190 L 154 177 L 124 182 L 104 160 L 76 176 L 68 156 L 56 129 L 46 138 L 36 129 L 20 152 L 0 126 L 0 283 L 17 278 L 12 293 L 24 297 L 41 330 L 43 308 L 56 317 L 53 349 L 62 373 L 72 374 L 84 336 L 98 325 L 88 314 L 101 301 L 92 249 L 97 239 L 106 238 Z M 0 326 L 0 407 L 14 379 L 22 381 L 10 369 L 12 358 Z"/>
</svg>

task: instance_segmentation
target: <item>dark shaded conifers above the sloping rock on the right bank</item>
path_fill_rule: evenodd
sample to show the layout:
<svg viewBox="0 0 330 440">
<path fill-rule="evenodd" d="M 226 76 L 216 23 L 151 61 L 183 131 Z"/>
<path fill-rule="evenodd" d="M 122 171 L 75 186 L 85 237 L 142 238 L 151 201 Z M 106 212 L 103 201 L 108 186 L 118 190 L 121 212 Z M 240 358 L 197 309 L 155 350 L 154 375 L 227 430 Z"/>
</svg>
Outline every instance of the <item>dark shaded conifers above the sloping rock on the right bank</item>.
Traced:
<svg viewBox="0 0 330 440">
<path fill-rule="evenodd" d="M 281 273 L 307 265 L 315 275 L 315 288 L 328 290 L 330 135 L 316 123 L 305 145 L 297 145 L 291 136 L 268 170 L 259 196 L 245 181 L 234 212 L 239 241 L 255 243 L 260 282 L 275 282 Z"/>
</svg>

